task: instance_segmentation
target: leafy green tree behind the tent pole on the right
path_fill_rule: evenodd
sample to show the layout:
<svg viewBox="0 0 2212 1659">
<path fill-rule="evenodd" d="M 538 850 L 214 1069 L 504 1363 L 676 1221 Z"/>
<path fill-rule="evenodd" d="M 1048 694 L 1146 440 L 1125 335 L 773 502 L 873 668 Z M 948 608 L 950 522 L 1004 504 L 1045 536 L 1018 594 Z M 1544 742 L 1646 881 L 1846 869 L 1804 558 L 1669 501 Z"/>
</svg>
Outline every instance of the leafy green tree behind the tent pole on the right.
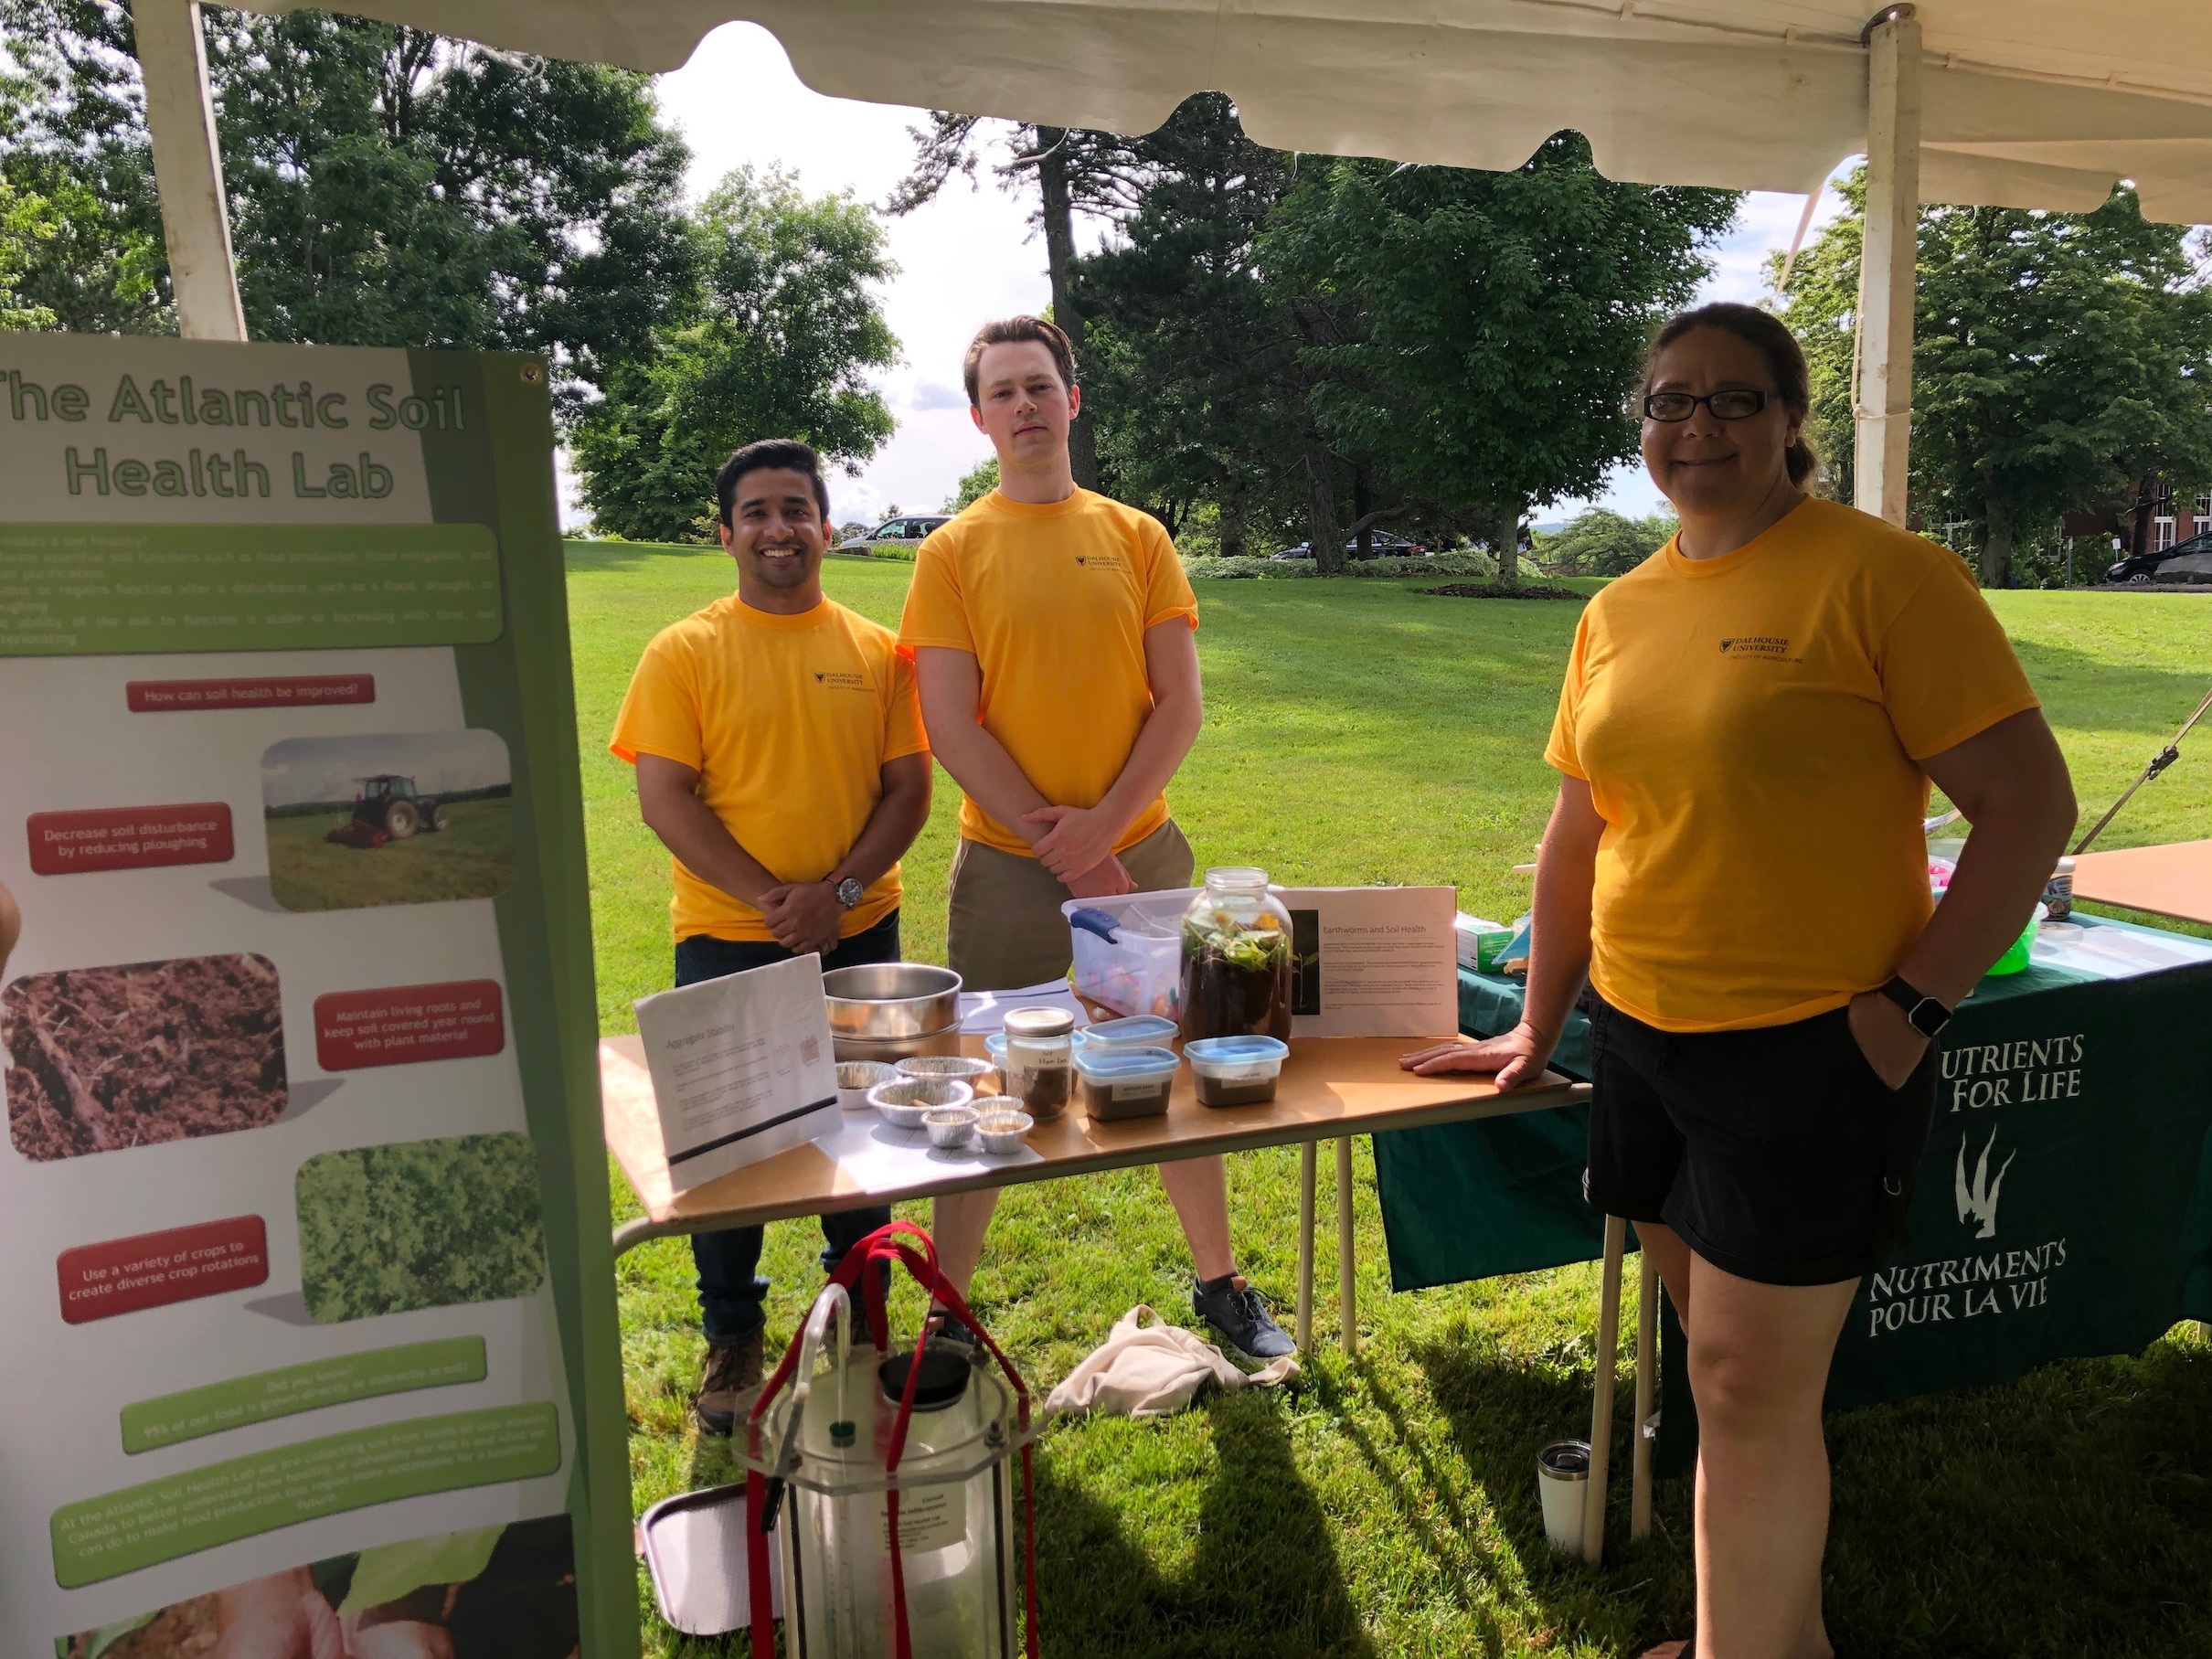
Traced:
<svg viewBox="0 0 2212 1659">
<path fill-rule="evenodd" d="M 1865 186 L 1807 248 L 1783 316 L 1814 367 L 1816 442 L 1849 489 L 1851 332 Z M 2086 215 L 1922 208 L 1913 341 L 1913 511 L 1980 526 L 1984 586 L 2022 542 L 2130 482 L 2212 482 L 2212 292 L 2183 226 L 2126 186 Z"/>
</svg>

